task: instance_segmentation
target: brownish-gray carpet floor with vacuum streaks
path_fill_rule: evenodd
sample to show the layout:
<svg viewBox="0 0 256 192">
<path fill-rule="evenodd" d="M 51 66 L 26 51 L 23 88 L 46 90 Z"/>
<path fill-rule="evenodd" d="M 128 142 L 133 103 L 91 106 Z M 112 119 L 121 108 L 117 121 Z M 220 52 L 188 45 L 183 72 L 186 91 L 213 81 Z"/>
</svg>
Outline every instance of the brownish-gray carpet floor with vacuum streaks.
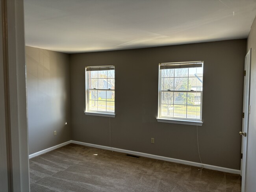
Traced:
<svg viewBox="0 0 256 192">
<path fill-rule="evenodd" d="M 98 154 L 98 155 L 94 155 Z M 31 192 L 241 192 L 241 177 L 69 144 L 30 159 Z"/>
</svg>

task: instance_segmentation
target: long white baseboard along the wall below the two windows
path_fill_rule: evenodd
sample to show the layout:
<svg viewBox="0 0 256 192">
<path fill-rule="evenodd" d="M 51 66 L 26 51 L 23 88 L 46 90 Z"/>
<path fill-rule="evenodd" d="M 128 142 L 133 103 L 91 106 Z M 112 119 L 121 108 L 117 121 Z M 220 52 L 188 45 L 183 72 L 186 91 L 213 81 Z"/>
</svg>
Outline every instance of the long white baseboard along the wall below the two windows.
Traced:
<svg viewBox="0 0 256 192">
<path fill-rule="evenodd" d="M 137 151 L 123 150 L 123 149 L 119 149 L 119 148 L 111 148 L 111 147 L 107 147 L 107 146 L 90 144 L 90 143 L 74 141 L 74 140 L 71 140 L 71 143 L 78 144 L 78 145 L 83 145 L 83 146 L 94 147 L 94 148 L 100 148 L 100 149 L 104 149 L 104 150 L 117 151 L 117 152 L 121 152 L 121 153 L 128 153 L 128 154 L 131 154 L 131 155 L 137 155 L 137 156 L 142 156 L 142 157 L 149 157 L 149 158 L 152 158 L 152 159 L 159 159 L 159 160 L 163 160 L 163 161 L 176 162 L 176 163 L 180 163 L 180 164 L 202 167 L 202 164 L 198 163 L 198 162 L 185 161 L 185 160 L 181 160 L 181 159 L 173 159 L 173 158 L 170 158 L 170 157 L 151 155 L 151 154 L 148 154 L 148 153 L 141 153 L 141 152 L 137 152 Z M 236 170 L 236 169 L 230 169 L 230 168 L 219 167 L 219 166 L 208 165 L 208 164 L 203 164 L 203 165 L 204 165 L 204 168 L 206 168 L 206 169 L 217 170 L 217 171 L 222 171 L 222 172 L 232 173 L 232 174 L 240 174 L 241 173 L 240 170 Z"/>
</svg>

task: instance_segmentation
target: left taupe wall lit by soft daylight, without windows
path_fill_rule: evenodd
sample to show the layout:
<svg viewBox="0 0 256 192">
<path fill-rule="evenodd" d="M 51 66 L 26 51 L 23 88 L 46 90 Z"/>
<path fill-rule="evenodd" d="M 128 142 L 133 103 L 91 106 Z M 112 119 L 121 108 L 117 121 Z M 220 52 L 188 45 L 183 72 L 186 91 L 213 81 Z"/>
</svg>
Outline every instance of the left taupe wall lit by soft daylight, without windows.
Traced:
<svg viewBox="0 0 256 192">
<path fill-rule="evenodd" d="M 71 140 L 69 55 L 26 46 L 26 66 L 32 154 Z"/>
</svg>

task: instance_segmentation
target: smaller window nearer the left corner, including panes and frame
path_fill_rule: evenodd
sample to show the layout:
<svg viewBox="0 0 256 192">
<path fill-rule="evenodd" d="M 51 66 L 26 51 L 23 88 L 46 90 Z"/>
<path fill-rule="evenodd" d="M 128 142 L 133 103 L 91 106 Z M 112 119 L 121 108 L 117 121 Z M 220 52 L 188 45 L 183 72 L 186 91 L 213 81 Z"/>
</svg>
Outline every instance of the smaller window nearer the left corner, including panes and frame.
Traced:
<svg viewBox="0 0 256 192">
<path fill-rule="evenodd" d="M 115 66 L 86 67 L 85 92 L 85 114 L 114 117 Z"/>
</svg>

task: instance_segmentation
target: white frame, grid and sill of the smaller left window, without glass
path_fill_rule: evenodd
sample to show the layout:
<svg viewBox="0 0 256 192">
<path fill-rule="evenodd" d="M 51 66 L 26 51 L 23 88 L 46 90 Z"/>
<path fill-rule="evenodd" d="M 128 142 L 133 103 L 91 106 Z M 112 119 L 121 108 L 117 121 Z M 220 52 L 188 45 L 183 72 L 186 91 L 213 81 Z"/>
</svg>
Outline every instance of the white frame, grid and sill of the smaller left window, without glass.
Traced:
<svg viewBox="0 0 256 192">
<path fill-rule="evenodd" d="M 115 117 L 115 109 L 114 111 L 98 111 L 98 110 L 89 110 L 89 91 L 90 90 L 109 90 L 109 89 L 89 89 L 89 77 L 87 76 L 87 70 L 95 70 L 100 71 L 100 70 L 110 70 L 109 68 L 111 68 L 111 70 L 115 70 L 115 66 L 114 65 L 108 65 L 108 66 L 87 66 L 85 67 L 85 114 L 86 115 L 94 115 L 94 116 L 105 116 L 105 117 Z M 97 78 L 99 79 L 99 78 Z M 107 82 L 108 82 L 108 78 Z M 115 77 L 114 77 L 115 79 Z M 115 91 L 115 89 L 110 89 L 111 91 Z M 98 100 L 97 100 L 98 101 Z M 115 102 L 115 101 L 114 101 Z"/>
</svg>

